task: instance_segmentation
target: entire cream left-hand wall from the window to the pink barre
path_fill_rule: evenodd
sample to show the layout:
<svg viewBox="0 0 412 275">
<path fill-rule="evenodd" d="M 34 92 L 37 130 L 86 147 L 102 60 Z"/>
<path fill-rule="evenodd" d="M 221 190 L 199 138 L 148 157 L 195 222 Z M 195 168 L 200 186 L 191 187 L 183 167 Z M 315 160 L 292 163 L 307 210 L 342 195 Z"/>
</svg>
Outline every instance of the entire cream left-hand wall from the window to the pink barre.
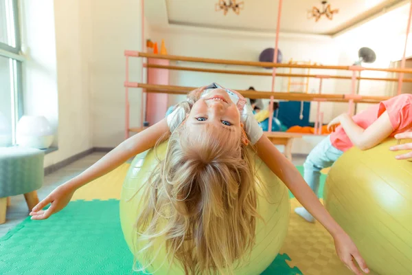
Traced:
<svg viewBox="0 0 412 275">
<path fill-rule="evenodd" d="M 104 3 L 103 3 L 104 2 Z M 124 50 L 141 50 L 140 2 L 22 1 L 25 114 L 45 115 L 58 151 L 45 166 L 124 140 Z M 146 22 L 146 35 L 150 27 Z M 130 58 L 141 80 L 141 58 Z M 130 124 L 139 126 L 141 90 L 130 89 Z"/>
</svg>

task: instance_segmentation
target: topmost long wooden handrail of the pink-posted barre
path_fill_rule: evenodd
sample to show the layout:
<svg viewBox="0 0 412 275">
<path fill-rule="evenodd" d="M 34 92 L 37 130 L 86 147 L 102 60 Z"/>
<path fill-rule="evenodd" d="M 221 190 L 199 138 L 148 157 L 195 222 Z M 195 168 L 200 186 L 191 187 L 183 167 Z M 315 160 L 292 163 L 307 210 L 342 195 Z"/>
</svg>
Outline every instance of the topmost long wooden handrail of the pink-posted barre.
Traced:
<svg viewBox="0 0 412 275">
<path fill-rule="evenodd" d="M 139 56 L 146 58 L 158 58 L 166 59 L 170 61 L 187 61 L 198 63 L 211 63 L 211 64 L 223 64 L 223 65 L 241 65 L 241 66 L 253 66 L 253 67 L 275 67 L 275 68 L 301 68 L 301 69 L 341 69 L 341 70 L 356 70 L 356 71 L 378 71 L 378 72 L 397 72 L 404 74 L 412 74 L 412 69 L 385 69 L 385 68 L 367 68 L 356 66 L 334 66 L 334 65 L 299 65 L 299 64 L 287 64 L 287 63 L 272 63 L 272 62 L 258 62 L 258 61 L 233 61 L 227 59 L 216 58 L 200 58 L 191 56 L 173 56 L 163 54 L 149 54 L 146 52 L 134 52 L 126 51 L 126 56 Z"/>
</svg>

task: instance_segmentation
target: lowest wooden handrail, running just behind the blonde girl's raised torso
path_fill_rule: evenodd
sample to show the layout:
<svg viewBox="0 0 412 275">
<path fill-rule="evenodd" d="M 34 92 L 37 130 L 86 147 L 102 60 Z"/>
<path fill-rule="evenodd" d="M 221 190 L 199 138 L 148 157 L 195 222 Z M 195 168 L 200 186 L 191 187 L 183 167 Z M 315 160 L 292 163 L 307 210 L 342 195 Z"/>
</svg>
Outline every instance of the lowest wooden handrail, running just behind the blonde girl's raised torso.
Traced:
<svg viewBox="0 0 412 275">
<path fill-rule="evenodd" d="M 144 83 L 124 83 L 126 87 L 142 88 L 146 93 L 161 93 L 161 94 L 187 94 L 187 92 L 196 89 L 196 87 L 183 87 L 174 85 L 152 85 Z M 303 94 L 303 93 L 287 93 L 287 92 L 270 92 L 270 91 L 251 91 L 238 90 L 242 96 L 246 98 L 273 98 L 277 100 L 294 100 L 294 101 L 325 101 L 325 102 L 348 102 L 350 98 L 345 94 Z M 388 96 L 359 96 L 354 98 L 354 102 L 358 103 L 378 103 L 382 100 L 387 100 Z"/>
</svg>

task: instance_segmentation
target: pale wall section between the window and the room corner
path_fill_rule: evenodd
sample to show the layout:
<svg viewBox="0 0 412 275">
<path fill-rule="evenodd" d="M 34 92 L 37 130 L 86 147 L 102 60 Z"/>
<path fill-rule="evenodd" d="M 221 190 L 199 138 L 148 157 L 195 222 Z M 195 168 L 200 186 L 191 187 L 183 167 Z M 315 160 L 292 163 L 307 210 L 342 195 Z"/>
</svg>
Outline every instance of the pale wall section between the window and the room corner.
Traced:
<svg viewBox="0 0 412 275">
<path fill-rule="evenodd" d="M 89 1 L 21 2 L 25 114 L 45 115 L 56 130 L 58 151 L 45 166 L 92 147 L 89 105 L 91 6 Z M 23 47 L 23 48 L 25 48 Z"/>
</svg>

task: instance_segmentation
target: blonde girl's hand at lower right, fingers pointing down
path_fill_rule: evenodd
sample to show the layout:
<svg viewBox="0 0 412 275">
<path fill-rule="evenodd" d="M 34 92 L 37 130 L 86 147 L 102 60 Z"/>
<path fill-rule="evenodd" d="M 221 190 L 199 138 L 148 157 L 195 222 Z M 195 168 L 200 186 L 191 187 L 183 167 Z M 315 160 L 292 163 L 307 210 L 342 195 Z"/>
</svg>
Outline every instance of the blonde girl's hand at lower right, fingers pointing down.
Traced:
<svg viewBox="0 0 412 275">
<path fill-rule="evenodd" d="M 339 258 L 347 268 L 349 268 L 356 275 L 362 275 L 362 272 L 360 272 L 358 267 L 356 267 L 356 261 L 363 272 L 369 273 L 365 260 L 362 258 L 358 248 L 356 248 L 356 245 L 352 239 L 350 239 L 349 235 L 345 232 L 339 233 L 334 237 L 334 243 Z"/>
</svg>

